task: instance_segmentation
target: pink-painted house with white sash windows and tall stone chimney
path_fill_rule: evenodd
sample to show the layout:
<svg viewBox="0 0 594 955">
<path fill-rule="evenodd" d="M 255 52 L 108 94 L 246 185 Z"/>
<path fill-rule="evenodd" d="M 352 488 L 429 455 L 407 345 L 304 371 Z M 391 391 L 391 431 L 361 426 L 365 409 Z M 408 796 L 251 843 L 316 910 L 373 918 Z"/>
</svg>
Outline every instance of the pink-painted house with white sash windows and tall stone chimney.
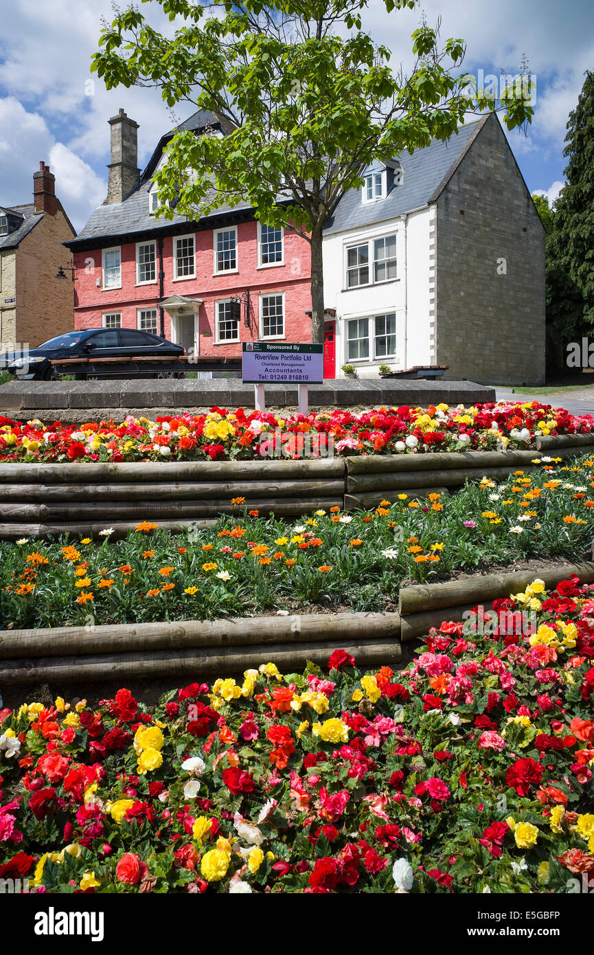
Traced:
<svg viewBox="0 0 594 955">
<path fill-rule="evenodd" d="M 138 124 L 120 110 L 110 125 L 107 199 L 65 243 L 74 258 L 74 328 L 144 329 L 201 356 L 239 357 L 243 341 L 310 341 L 308 243 L 261 225 L 243 204 L 198 223 L 157 220 L 152 177 L 175 131 L 140 173 Z M 204 111 L 181 128 L 228 132 L 223 117 Z"/>
</svg>

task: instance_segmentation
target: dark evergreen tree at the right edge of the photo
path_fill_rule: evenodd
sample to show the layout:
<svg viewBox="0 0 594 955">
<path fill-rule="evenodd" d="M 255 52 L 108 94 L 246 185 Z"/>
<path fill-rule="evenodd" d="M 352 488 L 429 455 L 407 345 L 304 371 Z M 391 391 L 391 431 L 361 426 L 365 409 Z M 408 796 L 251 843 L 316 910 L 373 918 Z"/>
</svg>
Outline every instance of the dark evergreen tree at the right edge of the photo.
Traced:
<svg viewBox="0 0 594 955">
<path fill-rule="evenodd" d="M 547 322 L 558 340 L 594 327 L 594 74 L 587 71 L 567 122 L 566 185 L 555 202 L 547 236 Z"/>
</svg>

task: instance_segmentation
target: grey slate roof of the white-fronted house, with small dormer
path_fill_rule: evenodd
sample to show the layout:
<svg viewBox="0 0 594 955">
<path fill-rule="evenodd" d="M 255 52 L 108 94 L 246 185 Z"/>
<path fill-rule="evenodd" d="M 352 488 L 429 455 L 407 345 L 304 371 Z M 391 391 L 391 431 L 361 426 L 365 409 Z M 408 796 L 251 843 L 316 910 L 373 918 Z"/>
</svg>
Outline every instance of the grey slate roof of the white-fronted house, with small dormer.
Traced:
<svg viewBox="0 0 594 955">
<path fill-rule="evenodd" d="M 412 155 L 403 150 L 399 156 L 402 183 L 394 185 L 385 199 L 376 202 L 361 202 L 361 190 L 351 189 L 338 203 L 324 234 L 381 223 L 435 202 L 488 118 L 466 123 L 447 142 L 434 139 L 425 149 L 415 149 Z"/>
</svg>

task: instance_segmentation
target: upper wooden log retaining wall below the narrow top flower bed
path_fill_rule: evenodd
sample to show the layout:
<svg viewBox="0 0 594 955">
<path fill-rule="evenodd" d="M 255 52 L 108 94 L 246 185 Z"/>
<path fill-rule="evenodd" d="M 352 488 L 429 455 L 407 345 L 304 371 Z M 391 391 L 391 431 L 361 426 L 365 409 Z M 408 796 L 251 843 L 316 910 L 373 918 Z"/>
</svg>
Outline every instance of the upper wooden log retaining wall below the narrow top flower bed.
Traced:
<svg viewBox="0 0 594 955">
<path fill-rule="evenodd" d="M 219 514 L 294 517 L 318 509 L 375 507 L 398 494 L 447 494 L 467 479 L 532 470 L 535 457 L 594 451 L 594 435 L 537 440 L 538 451 L 318 458 L 316 460 L 144 463 L 0 463 L 0 540 L 64 532 L 125 535 L 139 520 L 170 529 Z M 244 498 L 244 505 L 232 505 Z"/>
</svg>

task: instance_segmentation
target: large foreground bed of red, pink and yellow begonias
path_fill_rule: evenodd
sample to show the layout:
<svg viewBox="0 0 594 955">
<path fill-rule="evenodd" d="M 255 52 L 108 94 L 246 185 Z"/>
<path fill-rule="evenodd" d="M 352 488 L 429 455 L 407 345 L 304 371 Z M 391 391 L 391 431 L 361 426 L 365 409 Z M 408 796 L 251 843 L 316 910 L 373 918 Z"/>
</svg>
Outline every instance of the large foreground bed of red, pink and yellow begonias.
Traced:
<svg viewBox="0 0 594 955">
<path fill-rule="evenodd" d="M 503 635 L 98 709 L 0 711 L 0 878 L 37 892 L 554 892 L 594 873 L 594 599 Z M 485 632 L 481 632 L 484 630 Z"/>
</svg>

